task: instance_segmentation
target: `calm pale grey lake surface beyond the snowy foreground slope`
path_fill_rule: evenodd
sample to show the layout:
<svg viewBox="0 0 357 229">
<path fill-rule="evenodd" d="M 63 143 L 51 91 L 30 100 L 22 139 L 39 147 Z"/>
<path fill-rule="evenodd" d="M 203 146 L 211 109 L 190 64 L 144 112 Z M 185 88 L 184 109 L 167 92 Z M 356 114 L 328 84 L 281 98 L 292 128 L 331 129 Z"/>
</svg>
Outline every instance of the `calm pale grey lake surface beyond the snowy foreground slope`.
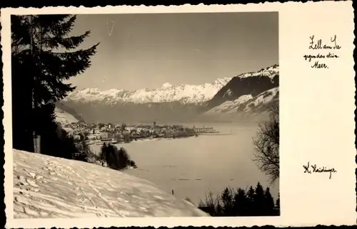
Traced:
<svg viewBox="0 0 357 229">
<path fill-rule="evenodd" d="M 192 124 L 190 124 L 192 125 Z M 202 127 L 203 124 L 195 124 Z M 253 159 L 252 137 L 258 124 L 205 124 L 231 135 L 200 135 L 183 139 L 153 139 L 117 144 L 124 147 L 137 169 L 124 171 L 156 184 L 177 198 L 190 198 L 195 204 L 209 191 L 223 188 L 246 188 L 261 182 L 265 188 L 268 178 L 258 170 Z M 99 150 L 100 146 L 94 146 Z M 278 183 L 270 186 L 274 200 Z"/>
</svg>

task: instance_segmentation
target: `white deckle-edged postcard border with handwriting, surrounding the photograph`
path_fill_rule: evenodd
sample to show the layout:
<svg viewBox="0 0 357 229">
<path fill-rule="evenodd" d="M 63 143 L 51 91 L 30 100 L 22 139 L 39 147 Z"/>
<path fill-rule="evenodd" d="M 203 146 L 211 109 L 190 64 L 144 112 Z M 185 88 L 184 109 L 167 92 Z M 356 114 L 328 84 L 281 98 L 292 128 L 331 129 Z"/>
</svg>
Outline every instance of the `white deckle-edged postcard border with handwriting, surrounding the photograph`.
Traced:
<svg viewBox="0 0 357 229">
<path fill-rule="evenodd" d="M 279 12 L 281 107 L 281 216 L 242 218 L 75 218 L 13 219 L 11 153 L 11 14 L 134 14 L 236 11 Z M 93 228 L 109 226 L 307 226 L 356 223 L 356 147 L 354 145 L 353 7 L 352 1 L 264 3 L 197 6 L 106 6 L 1 9 L 4 63 L 5 203 L 7 228 Z M 313 69 L 303 55 L 309 36 L 328 40 L 333 34 L 343 47 L 328 70 Z M 333 90 L 333 91 L 331 91 Z M 315 94 L 314 94 L 315 93 Z M 336 100 L 326 101 L 333 93 Z M 317 95 L 316 95 L 317 94 Z M 318 97 L 318 95 L 325 95 Z M 325 100 L 324 100 L 325 98 Z M 329 106 L 330 105 L 330 106 Z M 333 109 L 338 107 L 338 109 Z M 318 118 L 319 117 L 319 118 Z M 339 117 L 336 120 L 336 117 Z M 312 120 L 313 119 L 313 120 Z M 326 127 L 326 124 L 330 124 Z M 307 129 L 308 128 L 308 129 Z M 316 135 L 318 134 L 318 135 Z M 335 141 L 332 144 L 331 141 Z M 308 161 L 338 171 L 303 174 Z M 335 196 L 333 196 L 335 195 Z"/>
</svg>

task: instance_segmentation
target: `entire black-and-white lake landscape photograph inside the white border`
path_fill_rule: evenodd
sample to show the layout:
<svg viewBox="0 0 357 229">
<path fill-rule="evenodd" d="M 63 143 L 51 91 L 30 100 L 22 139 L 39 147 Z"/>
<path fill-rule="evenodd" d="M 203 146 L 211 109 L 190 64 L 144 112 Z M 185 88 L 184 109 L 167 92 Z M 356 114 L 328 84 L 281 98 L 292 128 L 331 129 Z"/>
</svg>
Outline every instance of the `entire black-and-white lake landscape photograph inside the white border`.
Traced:
<svg viewBox="0 0 357 229">
<path fill-rule="evenodd" d="M 11 15 L 14 218 L 281 215 L 279 14 Z"/>
</svg>

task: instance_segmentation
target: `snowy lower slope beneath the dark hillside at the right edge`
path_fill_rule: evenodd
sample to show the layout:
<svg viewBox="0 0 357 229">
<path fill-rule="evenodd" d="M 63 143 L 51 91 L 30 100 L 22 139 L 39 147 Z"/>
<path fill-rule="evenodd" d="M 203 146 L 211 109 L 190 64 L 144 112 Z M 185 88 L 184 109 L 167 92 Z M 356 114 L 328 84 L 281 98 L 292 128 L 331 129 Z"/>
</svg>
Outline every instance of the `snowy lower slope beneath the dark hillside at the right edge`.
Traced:
<svg viewBox="0 0 357 229">
<path fill-rule="evenodd" d="M 228 100 L 221 105 L 213 107 L 211 110 L 205 112 L 204 115 L 218 115 L 218 114 L 233 114 L 236 112 L 264 112 L 268 110 L 268 106 L 272 102 L 278 101 L 279 87 L 274 87 L 259 95 L 252 97 L 251 95 L 242 95 L 236 100 Z"/>
</svg>

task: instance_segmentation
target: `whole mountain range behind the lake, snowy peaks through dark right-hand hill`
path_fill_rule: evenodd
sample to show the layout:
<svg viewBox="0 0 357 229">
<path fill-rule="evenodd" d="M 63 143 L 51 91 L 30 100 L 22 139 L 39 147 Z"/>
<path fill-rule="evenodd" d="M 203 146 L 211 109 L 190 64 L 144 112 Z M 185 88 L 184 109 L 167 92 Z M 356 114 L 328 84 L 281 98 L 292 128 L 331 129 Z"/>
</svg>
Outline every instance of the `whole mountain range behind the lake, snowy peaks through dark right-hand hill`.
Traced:
<svg viewBox="0 0 357 229">
<path fill-rule="evenodd" d="M 209 114 L 212 117 L 227 110 L 231 110 L 232 114 L 234 110 L 261 112 L 268 100 L 260 100 L 258 96 L 276 88 L 273 90 L 276 93 L 274 101 L 278 99 L 278 78 L 279 66 L 272 65 L 256 72 L 220 78 L 203 85 L 173 86 L 164 83 L 154 90 L 134 91 L 87 88 L 72 92 L 61 101 L 61 105 L 66 108 L 62 109 L 66 112 L 76 110 L 77 115 L 74 117 L 83 117 L 86 122 L 199 121 L 201 115 Z M 249 105 L 249 109 L 242 108 L 248 101 L 259 102 L 256 102 L 255 107 Z"/>
</svg>

